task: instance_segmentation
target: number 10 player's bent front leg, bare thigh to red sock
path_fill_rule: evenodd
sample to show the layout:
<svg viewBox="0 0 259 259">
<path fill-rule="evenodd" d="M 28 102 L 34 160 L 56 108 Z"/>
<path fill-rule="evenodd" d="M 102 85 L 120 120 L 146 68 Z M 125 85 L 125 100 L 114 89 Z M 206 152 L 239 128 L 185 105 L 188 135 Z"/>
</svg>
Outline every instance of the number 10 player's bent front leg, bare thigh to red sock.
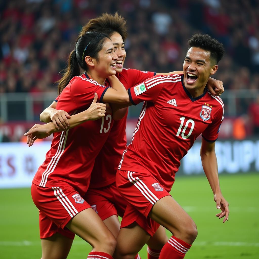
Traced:
<svg viewBox="0 0 259 259">
<path fill-rule="evenodd" d="M 191 217 L 171 196 L 158 200 L 149 216 L 172 233 L 159 258 L 183 258 L 198 234 Z"/>
</svg>

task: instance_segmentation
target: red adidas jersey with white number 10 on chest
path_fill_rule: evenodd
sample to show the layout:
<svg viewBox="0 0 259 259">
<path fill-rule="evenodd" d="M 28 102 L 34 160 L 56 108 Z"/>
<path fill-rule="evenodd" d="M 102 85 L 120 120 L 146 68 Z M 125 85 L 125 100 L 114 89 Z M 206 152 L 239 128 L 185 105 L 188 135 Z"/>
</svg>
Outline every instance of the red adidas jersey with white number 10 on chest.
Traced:
<svg viewBox="0 0 259 259">
<path fill-rule="evenodd" d="M 206 141 L 217 140 L 223 102 L 207 89 L 192 98 L 178 74 L 154 76 L 128 93 L 132 104 L 144 104 L 118 169 L 151 172 L 169 192 L 180 160 L 195 139 L 202 134 Z"/>
</svg>

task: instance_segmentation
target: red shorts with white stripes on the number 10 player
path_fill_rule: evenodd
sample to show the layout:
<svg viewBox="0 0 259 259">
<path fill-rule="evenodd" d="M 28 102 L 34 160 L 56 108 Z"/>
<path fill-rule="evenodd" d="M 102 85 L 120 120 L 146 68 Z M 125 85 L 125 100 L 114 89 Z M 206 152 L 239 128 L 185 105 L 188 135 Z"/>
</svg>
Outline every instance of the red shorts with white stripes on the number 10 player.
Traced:
<svg viewBox="0 0 259 259">
<path fill-rule="evenodd" d="M 152 174 L 148 173 L 117 170 L 116 185 L 121 195 L 131 205 L 126 209 L 121 227 L 136 221 L 153 236 L 159 224 L 150 219 L 148 214 L 158 200 L 170 194 Z"/>
</svg>

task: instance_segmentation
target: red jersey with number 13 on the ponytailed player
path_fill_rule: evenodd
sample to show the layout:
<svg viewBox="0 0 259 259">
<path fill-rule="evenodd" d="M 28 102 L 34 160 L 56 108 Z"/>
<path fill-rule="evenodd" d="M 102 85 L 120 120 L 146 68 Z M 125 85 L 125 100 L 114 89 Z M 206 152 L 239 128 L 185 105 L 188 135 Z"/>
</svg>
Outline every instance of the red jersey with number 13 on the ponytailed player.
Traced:
<svg viewBox="0 0 259 259">
<path fill-rule="evenodd" d="M 81 112 L 89 108 L 95 92 L 98 102 L 102 102 L 107 89 L 86 75 L 76 76 L 61 92 L 56 108 L 70 115 Z M 112 123 L 111 114 L 106 113 L 102 119 L 54 133 L 51 149 L 34 176 L 33 183 L 42 187 L 67 183 L 83 195 L 89 186 L 95 157 L 104 145 Z"/>
</svg>

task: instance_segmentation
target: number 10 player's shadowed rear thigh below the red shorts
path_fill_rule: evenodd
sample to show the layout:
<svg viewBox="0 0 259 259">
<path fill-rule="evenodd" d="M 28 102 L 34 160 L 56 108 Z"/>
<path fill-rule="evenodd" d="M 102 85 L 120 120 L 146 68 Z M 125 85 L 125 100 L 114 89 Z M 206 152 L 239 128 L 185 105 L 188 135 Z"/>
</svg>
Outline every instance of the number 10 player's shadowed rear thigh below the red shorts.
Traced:
<svg viewBox="0 0 259 259">
<path fill-rule="evenodd" d="M 114 259 L 133 259 L 150 238 L 136 222 L 121 228 L 117 237 Z"/>
</svg>

